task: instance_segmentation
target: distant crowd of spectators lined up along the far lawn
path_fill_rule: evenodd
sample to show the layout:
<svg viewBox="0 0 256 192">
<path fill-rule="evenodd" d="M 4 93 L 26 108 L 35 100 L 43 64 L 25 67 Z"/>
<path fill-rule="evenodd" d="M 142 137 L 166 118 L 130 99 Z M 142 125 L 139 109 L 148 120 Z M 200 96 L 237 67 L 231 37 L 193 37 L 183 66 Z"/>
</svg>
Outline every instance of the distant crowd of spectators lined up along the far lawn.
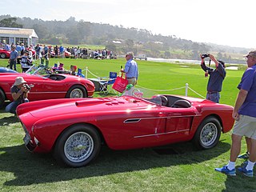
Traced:
<svg viewBox="0 0 256 192">
<path fill-rule="evenodd" d="M 9 65 L 11 70 L 17 70 L 17 63 L 21 64 L 22 72 L 26 72 L 32 66 L 32 62 L 37 59 L 49 60 L 55 58 L 94 58 L 94 59 L 116 59 L 117 54 L 112 50 L 91 50 L 78 47 L 48 46 L 37 44 L 36 46 L 24 46 L 23 43 L 14 45 L 12 43 L 1 43 L 0 48 L 10 51 Z"/>
</svg>

